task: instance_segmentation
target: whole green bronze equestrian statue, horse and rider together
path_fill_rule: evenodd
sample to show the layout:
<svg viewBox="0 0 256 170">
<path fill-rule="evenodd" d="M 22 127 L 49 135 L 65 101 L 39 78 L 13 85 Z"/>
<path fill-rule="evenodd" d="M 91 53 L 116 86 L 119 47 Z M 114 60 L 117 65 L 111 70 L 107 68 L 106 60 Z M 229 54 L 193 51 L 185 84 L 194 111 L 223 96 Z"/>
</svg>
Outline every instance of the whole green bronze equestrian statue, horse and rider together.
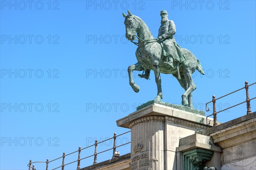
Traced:
<svg viewBox="0 0 256 170">
<path fill-rule="evenodd" d="M 159 29 L 158 38 L 154 39 L 148 26 L 140 17 L 137 17 L 128 11 L 125 17 L 125 36 L 134 43 L 138 40 L 136 50 L 137 63 L 128 67 L 129 84 L 135 92 L 140 91 L 140 87 L 134 83 L 132 72 L 145 71 L 145 74 L 139 75 L 148 80 L 150 71 L 154 71 L 157 84 L 157 97 L 155 101 L 161 101 L 163 98 L 160 73 L 173 74 L 185 89 L 182 95 L 182 105 L 193 108 L 192 92 L 196 86 L 192 80 L 192 74 L 197 69 L 204 75 L 200 61 L 187 49 L 180 48 L 176 43 L 174 35 L 176 33 L 175 24 L 168 20 L 167 11 L 160 12 L 162 21 Z M 136 34 L 137 33 L 137 34 Z M 137 39 L 136 39 L 137 37 Z M 163 48 L 162 48 L 163 47 Z M 170 87 L 172 90 L 173 87 Z"/>
</svg>

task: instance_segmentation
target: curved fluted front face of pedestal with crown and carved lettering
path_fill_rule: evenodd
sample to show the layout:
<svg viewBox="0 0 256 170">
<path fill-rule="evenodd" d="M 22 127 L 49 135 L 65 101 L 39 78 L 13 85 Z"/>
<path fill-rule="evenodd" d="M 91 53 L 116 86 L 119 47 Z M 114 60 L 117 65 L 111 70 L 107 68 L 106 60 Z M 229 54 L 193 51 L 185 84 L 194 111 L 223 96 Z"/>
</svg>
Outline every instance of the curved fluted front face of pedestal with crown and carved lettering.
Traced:
<svg viewBox="0 0 256 170">
<path fill-rule="evenodd" d="M 164 169 L 164 116 L 147 116 L 132 121 L 131 170 Z"/>
</svg>

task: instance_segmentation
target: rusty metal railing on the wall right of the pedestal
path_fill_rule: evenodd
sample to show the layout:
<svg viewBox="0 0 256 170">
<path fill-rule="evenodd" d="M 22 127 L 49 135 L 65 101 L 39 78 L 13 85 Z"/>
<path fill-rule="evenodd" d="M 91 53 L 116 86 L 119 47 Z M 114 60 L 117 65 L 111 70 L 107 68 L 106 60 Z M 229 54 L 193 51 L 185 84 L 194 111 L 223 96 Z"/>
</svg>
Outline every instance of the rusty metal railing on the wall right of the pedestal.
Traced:
<svg viewBox="0 0 256 170">
<path fill-rule="evenodd" d="M 226 108 L 226 109 L 223 109 L 223 110 L 221 110 L 221 111 L 216 112 L 216 106 L 215 106 L 216 100 L 221 99 L 221 98 L 224 98 L 224 97 L 227 96 L 227 95 L 231 95 L 231 94 L 233 94 L 233 93 L 238 92 L 239 90 L 241 90 L 241 89 L 238 89 L 238 90 L 236 90 L 236 91 L 230 92 L 230 93 L 228 93 L 227 95 L 221 96 L 221 97 L 219 97 L 219 98 L 215 98 L 215 95 L 213 95 L 213 96 L 212 96 L 212 101 L 209 101 L 209 102 L 207 102 L 207 103 L 205 104 L 205 110 L 206 110 L 207 112 L 209 111 L 209 108 L 207 109 L 207 104 L 209 104 L 209 103 L 211 103 L 211 102 L 212 102 L 212 104 L 213 104 L 213 112 L 212 112 L 212 114 L 211 114 L 211 115 L 213 115 L 213 126 L 216 126 L 216 125 L 217 125 L 217 114 L 218 114 L 219 112 L 223 112 L 223 111 L 225 111 L 225 110 L 227 110 L 227 109 L 230 109 L 230 108 L 232 108 L 232 107 L 236 107 L 236 106 L 238 106 L 238 105 L 240 105 L 240 104 L 243 104 L 243 103 L 245 103 L 245 102 L 246 102 L 246 106 L 247 106 L 247 114 L 250 114 L 250 113 L 251 113 L 250 101 L 253 100 L 253 99 L 255 99 L 256 97 L 251 98 L 251 99 L 249 98 L 249 86 L 252 86 L 253 84 L 256 84 L 256 82 L 253 83 L 253 84 L 248 85 L 248 82 L 245 81 L 244 84 L 245 84 L 244 87 L 241 88 L 241 89 L 245 89 L 245 91 L 246 91 L 246 100 L 245 100 L 245 101 L 243 101 L 243 102 L 241 102 L 241 103 L 239 103 L 239 104 L 236 104 L 236 105 L 234 105 L 234 106 L 231 106 L 231 107 L 229 107 L 229 108 Z M 208 115 L 208 116 L 206 117 L 206 122 L 207 122 L 207 118 L 208 118 L 209 116 L 211 116 L 211 115 Z"/>
</svg>

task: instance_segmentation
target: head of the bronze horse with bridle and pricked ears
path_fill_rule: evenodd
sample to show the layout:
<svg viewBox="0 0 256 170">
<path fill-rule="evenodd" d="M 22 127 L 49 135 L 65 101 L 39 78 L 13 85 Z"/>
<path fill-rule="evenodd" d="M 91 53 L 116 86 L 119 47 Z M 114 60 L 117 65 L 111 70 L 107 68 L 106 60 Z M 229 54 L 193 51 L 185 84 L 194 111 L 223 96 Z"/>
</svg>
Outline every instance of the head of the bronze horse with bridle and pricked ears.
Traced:
<svg viewBox="0 0 256 170">
<path fill-rule="evenodd" d="M 125 17 L 125 30 L 126 30 L 126 33 L 125 33 L 125 37 L 128 39 L 128 40 L 134 40 L 135 39 L 135 33 L 136 33 L 136 30 L 137 30 L 137 23 L 136 22 L 136 17 L 134 15 L 131 14 L 131 12 L 129 10 L 128 11 L 128 15 L 125 15 L 124 13 L 123 16 Z"/>
</svg>

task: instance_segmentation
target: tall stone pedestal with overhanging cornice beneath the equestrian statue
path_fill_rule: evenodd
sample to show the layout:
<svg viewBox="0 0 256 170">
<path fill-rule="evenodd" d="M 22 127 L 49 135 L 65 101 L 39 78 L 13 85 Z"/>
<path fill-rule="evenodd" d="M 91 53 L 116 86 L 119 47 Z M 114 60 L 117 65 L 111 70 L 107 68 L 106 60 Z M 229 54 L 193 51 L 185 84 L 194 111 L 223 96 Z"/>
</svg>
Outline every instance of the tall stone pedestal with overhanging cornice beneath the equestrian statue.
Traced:
<svg viewBox="0 0 256 170">
<path fill-rule="evenodd" d="M 207 125 L 204 115 L 152 103 L 116 123 L 131 129 L 131 170 L 176 170 L 180 140 L 211 127 L 209 120 Z"/>
</svg>

